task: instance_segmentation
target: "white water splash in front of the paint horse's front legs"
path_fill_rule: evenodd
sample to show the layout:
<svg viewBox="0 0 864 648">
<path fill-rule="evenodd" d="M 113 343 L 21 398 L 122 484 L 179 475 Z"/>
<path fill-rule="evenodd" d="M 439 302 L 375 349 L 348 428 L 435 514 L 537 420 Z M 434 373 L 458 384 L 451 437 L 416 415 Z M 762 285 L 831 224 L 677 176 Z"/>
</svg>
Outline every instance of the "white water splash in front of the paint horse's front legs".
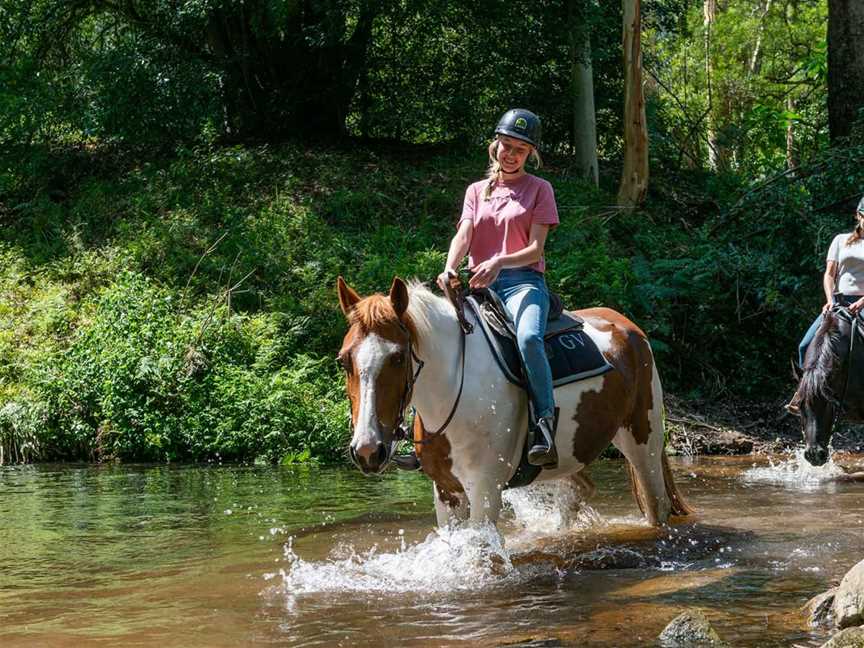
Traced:
<svg viewBox="0 0 864 648">
<path fill-rule="evenodd" d="M 445 528 L 418 544 L 402 541 L 398 551 L 377 547 L 358 553 L 351 546 L 334 549 L 323 561 L 307 562 L 285 546 L 287 566 L 265 578 L 281 577 L 289 597 L 311 593 L 453 592 L 502 586 L 518 578 L 492 526 Z"/>
</svg>

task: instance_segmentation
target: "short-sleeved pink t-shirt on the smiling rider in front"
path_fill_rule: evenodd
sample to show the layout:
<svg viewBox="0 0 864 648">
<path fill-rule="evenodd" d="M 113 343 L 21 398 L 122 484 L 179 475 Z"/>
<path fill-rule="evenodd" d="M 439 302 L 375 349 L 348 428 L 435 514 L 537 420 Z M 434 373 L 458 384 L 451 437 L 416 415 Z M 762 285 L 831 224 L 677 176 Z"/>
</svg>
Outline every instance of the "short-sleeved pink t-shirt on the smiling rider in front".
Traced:
<svg viewBox="0 0 864 648">
<path fill-rule="evenodd" d="M 555 194 L 546 180 L 526 173 L 516 180 L 497 183 L 487 199 L 484 193 L 488 184 L 488 180 L 480 180 L 468 187 L 459 218 L 459 223 L 469 220 L 474 225 L 468 254 L 471 268 L 494 256 L 525 248 L 534 223 L 558 225 Z M 544 272 L 546 259 L 531 268 Z"/>
</svg>

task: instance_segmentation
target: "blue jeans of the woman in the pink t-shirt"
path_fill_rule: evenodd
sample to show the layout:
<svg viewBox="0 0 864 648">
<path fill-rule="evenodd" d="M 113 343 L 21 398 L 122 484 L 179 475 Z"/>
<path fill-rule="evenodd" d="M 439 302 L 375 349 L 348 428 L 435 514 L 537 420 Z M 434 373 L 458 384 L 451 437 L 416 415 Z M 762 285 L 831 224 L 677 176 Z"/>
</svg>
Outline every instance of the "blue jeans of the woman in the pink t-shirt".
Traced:
<svg viewBox="0 0 864 648">
<path fill-rule="evenodd" d="M 516 329 L 516 342 L 528 374 L 528 389 L 537 417 L 555 413 L 552 370 L 543 334 L 549 316 L 549 289 L 542 272 L 505 268 L 490 286 L 507 306 Z"/>
</svg>

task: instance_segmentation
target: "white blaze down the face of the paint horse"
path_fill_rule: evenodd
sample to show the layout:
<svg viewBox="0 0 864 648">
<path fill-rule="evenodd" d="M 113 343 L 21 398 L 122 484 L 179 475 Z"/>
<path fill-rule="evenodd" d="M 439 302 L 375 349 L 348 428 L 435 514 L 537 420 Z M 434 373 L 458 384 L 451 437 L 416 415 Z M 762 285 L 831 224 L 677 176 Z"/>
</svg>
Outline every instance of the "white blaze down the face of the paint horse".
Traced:
<svg viewBox="0 0 864 648">
<path fill-rule="evenodd" d="M 355 367 L 360 379 L 360 406 L 351 445 L 365 458 L 377 451 L 381 439 L 376 411 L 378 375 L 386 359 L 398 351 L 397 344 L 388 342 L 375 333 L 370 333 L 357 348 Z"/>
</svg>

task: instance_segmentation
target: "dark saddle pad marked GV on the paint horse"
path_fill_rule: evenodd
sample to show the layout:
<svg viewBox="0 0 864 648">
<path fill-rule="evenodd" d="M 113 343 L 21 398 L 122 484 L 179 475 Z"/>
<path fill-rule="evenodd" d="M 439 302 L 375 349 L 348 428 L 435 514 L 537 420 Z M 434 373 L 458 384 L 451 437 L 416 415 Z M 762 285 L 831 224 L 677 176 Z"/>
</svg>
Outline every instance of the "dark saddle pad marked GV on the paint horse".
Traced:
<svg viewBox="0 0 864 648">
<path fill-rule="evenodd" d="M 465 298 L 465 303 L 474 312 L 504 376 L 513 384 L 526 388 L 525 372 L 512 323 L 509 318 L 501 321 L 500 300 L 496 303 L 494 299 L 486 298 L 484 294 L 472 294 Z M 544 339 L 555 387 L 599 376 L 612 369 L 612 365 L 583 330 L 582 321 L 568 313 L 547 324 Z"/>
</svg>

